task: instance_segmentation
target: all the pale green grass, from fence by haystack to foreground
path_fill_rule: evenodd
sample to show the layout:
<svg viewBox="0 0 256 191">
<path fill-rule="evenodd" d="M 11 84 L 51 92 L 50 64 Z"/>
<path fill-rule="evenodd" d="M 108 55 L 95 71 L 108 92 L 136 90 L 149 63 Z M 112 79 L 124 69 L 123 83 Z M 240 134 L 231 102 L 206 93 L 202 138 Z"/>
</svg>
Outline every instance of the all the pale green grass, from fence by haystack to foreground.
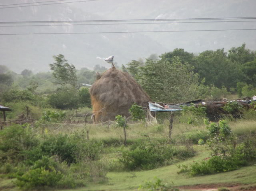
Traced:
<svg viewBox="0 0 256 191">
<path fill-rule="evenodd" d="M 256 133 L 256 121 L 254 120 L 238 120 L 228 122 L 232 131 L 238 136 L 246 136 L 252 132 Z M 108 146 L 105 147 L 102 153 L 102 159 L 111 162 L 112 165 L 118 163 L 118 156 L 120 151 L 128 149 L 122 145 L 123 141 L 123 129 L 116 128 L 114 124 L 108 125 L 93 125 L 87 124 L 89 129 L 89 138 L 95 140 L 103 140 Z M 67 133 L 74 132 L 86 134 L 85 126 L 83 124 L 55 124 L 45 126 L 43 133 Z M 173 139 L 178 142 L 181 136 L 190 136 L 195 140 L 198 140 L 200 136 L 204 136 L 201 133 L 198 136 L 198 132 L 206 132 L 205 125 L 188 125 L 185 123 L 179 123 L 176 119 L 173 125 Z M 37 129 L 35 133 L 42 133 L 41 129 Z M 127 141 L 128 144 L 132 144 L 141 139 L 168 139 L 168 123 L 147 125 L 143 123 L 129 124 L 127 128 Z M 108 172 L 108 180 L 104 183 L 88 183 L 86 187 L 77 189 L 60 189 L 59 191 L 135 191 L 138 190 L 138 186 L 143 184 L 145 180 L 154 181 L 154 178 L 160 178 L 167 185 L 174 187 L 180 187 L 181 190 L 202 190 L 201 188 L 217 189 L 220 186 L 243 186 L 256 185 L 256 164 L 253 166 L 243 167 L 235 171 L 218 173 L 213 175 L 190 177 L 184 174 L 177 174 L 179 164 L 192 164 L 196 161 L 205 160 L 211 156 L 211 151 L 207 146 L 194 145 L 196 156 L 189 158 L 185 161 L 179 161 L 170 166 L 164 166 L 154 170 L 148 171 L 115 171 Z M 15 179 L 0 178 L 0 190 L 1 191 L 17 191 L 12 181 Z M 200 185 L 200 186 L 198 186 Z M 245 185 L 245 186 L 244 186 Z M 181 187 L 190 186 L 190 187 Z M 246 190 L 246 189 L 245 189 Z"/>
</svg>

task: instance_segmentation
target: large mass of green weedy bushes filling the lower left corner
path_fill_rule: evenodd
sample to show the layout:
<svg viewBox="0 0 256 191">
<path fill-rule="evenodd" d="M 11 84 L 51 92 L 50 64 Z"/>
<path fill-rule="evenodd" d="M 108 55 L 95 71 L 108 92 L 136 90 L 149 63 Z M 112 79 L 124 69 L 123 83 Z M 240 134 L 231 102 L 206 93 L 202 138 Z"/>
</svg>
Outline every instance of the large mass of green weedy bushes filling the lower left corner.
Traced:
<svg viewBox="0 0 256 191">
<path fill-rule="evenodd" d="M 104 181 L 102 146 L 79 134 L 35 136 L 28 125 L 0 131 L 0 173 L 21 189 L 75 188 Z"/>
</svg>

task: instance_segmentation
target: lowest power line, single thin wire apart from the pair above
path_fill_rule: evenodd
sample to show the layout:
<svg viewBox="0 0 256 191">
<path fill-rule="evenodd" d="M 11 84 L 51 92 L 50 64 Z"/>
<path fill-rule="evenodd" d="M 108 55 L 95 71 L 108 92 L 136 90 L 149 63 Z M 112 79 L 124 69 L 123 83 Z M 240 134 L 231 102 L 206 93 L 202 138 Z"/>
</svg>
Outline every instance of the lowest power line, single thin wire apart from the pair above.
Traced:
<svg viewBox="0 0 256 191">
<path fill-rule="evenodd" d="M 204 32 L 204 31 L 253 31 L 256 29 L 215 29 L 215 30 L 179 30 L 179 31 L 123 31 L 123 32 L 80 32 L 80 33 L 3 33 L 0 35 L 49 35 L 49 34 L 110 34 L 110 33 L 163 33 L 163 32 Z"/>
</svg>

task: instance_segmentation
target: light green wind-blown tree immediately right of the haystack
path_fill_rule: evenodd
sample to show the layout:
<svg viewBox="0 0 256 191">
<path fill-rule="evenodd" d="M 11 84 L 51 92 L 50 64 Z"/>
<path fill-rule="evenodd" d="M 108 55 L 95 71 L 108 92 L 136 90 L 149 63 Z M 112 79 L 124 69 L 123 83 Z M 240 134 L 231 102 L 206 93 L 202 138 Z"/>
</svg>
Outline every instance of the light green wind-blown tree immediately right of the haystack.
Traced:
<svg viewBox="0 0 256 191">
<path fill-rule="evenodd" d="M 176 56 L 170 62 L 147 60 L 136 79 L 154 101 L 177 103 L 198 97 L 198 75 Z"/>
</svg>

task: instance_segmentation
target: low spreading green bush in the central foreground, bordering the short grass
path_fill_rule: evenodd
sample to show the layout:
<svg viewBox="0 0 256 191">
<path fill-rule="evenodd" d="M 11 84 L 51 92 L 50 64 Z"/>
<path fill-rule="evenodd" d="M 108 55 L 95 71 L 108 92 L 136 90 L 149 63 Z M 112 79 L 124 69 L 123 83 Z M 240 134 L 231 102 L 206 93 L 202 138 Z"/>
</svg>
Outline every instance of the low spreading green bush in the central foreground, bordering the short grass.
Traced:
<svg viewBox="0 0 256 191">
<path fill-rule="evenodd" d="M 128 170 L 146 170 L 163 166 L 170 163 L 174 158 L 184 159 L 194 155 L 194 152 L 181 147 L 147 141 L 138 142 L 132 145 L 129 151 L 123 151 L 119 161 Z"/>
</svg>

